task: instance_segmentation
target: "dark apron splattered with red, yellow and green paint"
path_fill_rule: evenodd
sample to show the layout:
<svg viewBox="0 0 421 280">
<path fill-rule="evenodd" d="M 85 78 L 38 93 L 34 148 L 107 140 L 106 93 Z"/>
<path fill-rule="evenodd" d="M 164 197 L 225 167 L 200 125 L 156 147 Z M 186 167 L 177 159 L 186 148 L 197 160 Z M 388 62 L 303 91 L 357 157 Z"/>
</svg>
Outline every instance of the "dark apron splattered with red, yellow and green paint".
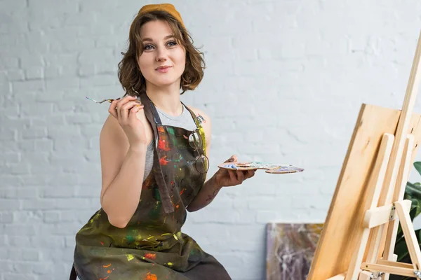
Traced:
<svg viewBox="0 0 421 280">
<path fill-rule="evenodd" d="M 187 140 L 192 132 L 161 125 L 147 95 L 141 99 L 157 141 L 138 208 L 122 229 L 109 223 L 104 210 L 97 211 L 76 235 L 74 269 L 81 280 L 231 279 L 212 255 L 180 231 L 186 207 L 206 177 L 194 166 L 197 151 Z M 203 128 L 189 111 L 205 146 Z"/>
</svg>

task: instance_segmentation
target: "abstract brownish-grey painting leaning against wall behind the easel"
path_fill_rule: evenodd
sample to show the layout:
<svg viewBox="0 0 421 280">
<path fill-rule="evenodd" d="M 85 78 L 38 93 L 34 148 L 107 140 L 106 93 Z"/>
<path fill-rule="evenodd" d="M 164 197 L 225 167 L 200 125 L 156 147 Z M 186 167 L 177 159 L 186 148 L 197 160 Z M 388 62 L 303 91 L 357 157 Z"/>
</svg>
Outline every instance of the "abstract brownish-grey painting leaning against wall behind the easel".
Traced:
<svg viewBox="0 0 421 280">
<path fill-rule="evenodd" d="M 305 280 L 323 224 L 269 223 L 266 280 Z"/>
</svg>

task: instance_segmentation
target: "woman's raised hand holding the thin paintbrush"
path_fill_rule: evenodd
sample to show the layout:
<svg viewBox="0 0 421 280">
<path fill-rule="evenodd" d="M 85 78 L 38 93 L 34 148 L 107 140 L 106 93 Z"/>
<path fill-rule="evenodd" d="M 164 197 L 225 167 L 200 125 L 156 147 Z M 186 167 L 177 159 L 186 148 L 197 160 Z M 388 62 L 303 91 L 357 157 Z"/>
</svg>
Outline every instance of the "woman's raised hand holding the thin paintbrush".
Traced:
<svg viewBox="0 0 421 280">
<path fill-rule="evenodd" d="M 131 148 L 144 147 L 147 144 L 145 124 L 136 116 L 142 109 L 140 101 L 131 96 L 116 99 L 109 105 L 109 113 L 119 121 Z"/>
</svg>

